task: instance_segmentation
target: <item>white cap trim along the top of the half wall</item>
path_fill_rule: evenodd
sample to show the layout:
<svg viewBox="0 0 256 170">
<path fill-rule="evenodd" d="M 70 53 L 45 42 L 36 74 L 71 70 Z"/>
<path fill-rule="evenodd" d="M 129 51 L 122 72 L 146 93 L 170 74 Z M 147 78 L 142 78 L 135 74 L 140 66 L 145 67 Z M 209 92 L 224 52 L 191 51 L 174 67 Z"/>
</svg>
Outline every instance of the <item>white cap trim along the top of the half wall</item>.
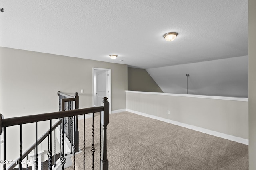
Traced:
<svg viewBox="0 0 256 170">
<path fill-rule="evenodd" d="M 192 98 L 207 98 L 207 99 L 235 100 L 235 101 L 248 102 L 248 98 L 236 98 L 236 97 L 225 97 L 225 96 L 204 96 L 204 95 L 195 95 L 195 94 L 139 92 L 139 91 L 129 91 L 129 90 L 126 90 L 125 92 L 126 93 L 138 93 L 138 94 L 157 94 L 157 95 L 165 95 L 165 96 L 182 96 L 182 97 L 192 97 Z"/>
</svg>

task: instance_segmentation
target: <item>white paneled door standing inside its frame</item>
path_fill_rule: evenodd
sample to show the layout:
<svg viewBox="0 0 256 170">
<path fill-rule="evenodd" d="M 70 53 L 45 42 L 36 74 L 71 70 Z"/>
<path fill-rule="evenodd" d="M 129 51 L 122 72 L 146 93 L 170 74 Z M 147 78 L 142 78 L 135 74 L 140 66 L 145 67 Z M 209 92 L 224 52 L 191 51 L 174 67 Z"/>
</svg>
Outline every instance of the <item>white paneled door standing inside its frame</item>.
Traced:
<svg viewBox="0 0 256 170">
<path fill-rule="evenodd" d="M 109 98 L 109 74 L 108 70 L 94 69 L 94 107 L 103 106 L 103 98 Z"/>
</svg>

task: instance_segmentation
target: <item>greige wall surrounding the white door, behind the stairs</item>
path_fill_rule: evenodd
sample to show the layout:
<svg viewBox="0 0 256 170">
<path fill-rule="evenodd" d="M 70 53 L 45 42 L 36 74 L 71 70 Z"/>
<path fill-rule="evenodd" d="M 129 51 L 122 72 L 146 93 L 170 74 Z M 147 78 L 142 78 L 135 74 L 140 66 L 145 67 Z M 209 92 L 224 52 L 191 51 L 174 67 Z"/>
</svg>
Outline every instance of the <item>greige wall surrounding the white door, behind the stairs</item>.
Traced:
<svg viewBox="0 0 256 170">
<path fill-rule="evenodd" d="M 4 47 L 0 57 L 5 117 L 58 111 L 58 90 L 78 92 L 79 107 L 92 107 L 93 67 L 111 69 L 112 110 L 126 108 L 127 65 Z"/>
</svg>

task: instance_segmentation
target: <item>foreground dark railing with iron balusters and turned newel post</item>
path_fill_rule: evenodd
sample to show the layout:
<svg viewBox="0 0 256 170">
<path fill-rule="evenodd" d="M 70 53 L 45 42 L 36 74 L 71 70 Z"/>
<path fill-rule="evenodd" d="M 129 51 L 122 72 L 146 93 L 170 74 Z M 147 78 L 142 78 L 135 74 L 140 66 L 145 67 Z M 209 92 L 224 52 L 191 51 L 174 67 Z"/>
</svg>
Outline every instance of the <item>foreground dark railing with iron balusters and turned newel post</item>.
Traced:
<svg viewBox="0 0 256 170">
<path fill-rule="evenodd" d="M 37 127 L 37 123 L 40 121 L 50 121 L 50 130 L 49 132 L 46 132 L 46 137 L 48 136 L 48 169 L 52 170 L 52 131 L 53 129 L 55 129 L 60 121 L 61 121 L 61 125 L 62 125 L 62 145 L 64 143 L 64 120 L 66 117 L 71 117 L 73 116 L 74 119 L 76 116 L 78 115 L 85 115 L 86 114 L 90 114 L 90 113 L 96 113 L 96 112 L 100 112 L 101 114 L 101 129 L 103 129 L 103 132 L 101 132 L 100 134 L 102 134 L 102 137 L 100 135 L 100 169 L 101 170 L 108 170 L 108 159 L 107 159 L 107 125 L 109 123 L 109 103 L 107 101 L 108 98 L 103 98 L 104 100 L 102 101 L 104 103 L 104 106 L 99 106 L 99 107 L 90 107 L 90 108 L 85 108 L 85 109 L 74 109 L 74 110 L 67 110 L 67 111 L 61 111 L 61 112 L 53 112 L 53 113 L 44 113 L 44 114 L 37 114 L 37 115 L 29 115 L 29 116 L 22 116 L 22 117 L 13 117 L 13 118 L 7 118 L 4 119 L 3 115 L 0 114 L 0 135 L 3 133 L 3 137 L 4 137 L 4 160 L 3 162 L 6 162 L 6 127 L 11 127 L 11 126 L 15 126 L 15 125 L 20 125 L 20 157 L 17 159 L 16 162 L 18 162 L 18 164 L 16 164 L 16 162 L 14 163 L 14 165 L 12 166 L 17 166 L 19 170 L 22 170 L 22 162 L 24 162 L 25 159 L 25 154 L 23 154 L 23 141 L 22 141 L 22 125 L 24 124 L 28 124 L 28 123 L 35 123 L 35 127 L 36 127 L 36 143 L 34 144 L 34 156 L 35 156 L 35 169 L 38 169 L 38 158 L 37 158 L 37 150 L 38 150 L 38 143 L 41 142 L 41 140 L 43 140 L 41 137 L 40 139 L 37 139 L 37 131 L 38 131 L 38 127 Z M 54 119 L 60 119 L 60 121 L 58 121 L 54 126 L 52 126 L 52 120 Z M 101 131 L 100 129 L 100 131 Z M 49 135 L 48 135 L 49 134 Z M 55 135 L 54 135 L 55 136 Z M 74 136 L 73 136 L 74 138 Z M 74 140 L 74 139 L 73 139 Z M 41 142 L 42 143 L 42 142 Z M 92 149 L 95 148 L 93 146 L 94 144 L 92 143 Z M 50 147 L 49 147 L 50 146 Z M 32 147 L 33 148 L 33 147 Z M 62 147 L 63 149 L 64 147 Z M 31 149 L 30 149 L 31 150 Z M 32 149 L 33 150 L 33 149 Z M 83 148 L 83 150 L 85 150 L 85 147 Z M 28 152 L 28 151 L 26 151 Z M 73 152 L 75 153 L 75 150 L 73 150 Z M 94 152 L 92 151 L 92 154 L 94 154 Z M 42 156 L 42 154 L 41 154 Z M 28 157 L 26 156 L 26 160 L 28 159 Z M 74 160 L 75 160 L 75 154 L 74 154 Z M 1 160 L 2 162 L 2 160 Z M 66 162 L 65 158 L 64 158 L 64 152 L 62 150 L 61 153 L 61 158 L 60 158 L 60 162 L 62 163 L 62 170 L 64 170 L 64 164 Z M 8 167 L 7 169 L 13 169 L 14 167 Z M 93 167 L 93 163 L 92 163 L 92 167 Z M 27 165 L 28 168 L 28 165 Z M 73 168 L 75 170 L 75 161 L 73 162 Z M 3 169 L 6 170 L 6 164 L 3 164 Z M 42 162 L 41 162 L 41 169 L 43 169 L 42 167 Z"/>
</svg>

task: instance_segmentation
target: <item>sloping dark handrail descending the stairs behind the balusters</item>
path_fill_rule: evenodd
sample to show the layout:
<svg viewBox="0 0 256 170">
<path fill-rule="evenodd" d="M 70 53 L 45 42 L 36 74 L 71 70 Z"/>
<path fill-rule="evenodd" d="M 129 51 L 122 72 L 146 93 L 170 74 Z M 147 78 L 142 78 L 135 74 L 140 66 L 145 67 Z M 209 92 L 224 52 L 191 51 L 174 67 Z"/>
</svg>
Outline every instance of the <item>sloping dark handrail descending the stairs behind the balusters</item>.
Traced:
<svg viewBox="0 0 256 170">
<path fill-rule="evenodd" d="M 53 126 L 52 126 L 52 131 L 54 131 L 54 129 L 56 129 L 57 127 L 58 127 L 58 125 L 60 125 L 61 124 L 61 119 L 60 120 L 58 120 Z M 44 135 L 42 135 L 42 137 L 40 137 L 38 140 L 37 140 L 37 143 L 41 143 L 48 135 L 50 134 L 50 129 L 46 132 L 46 133 L 44 133 Z M 28 154 L 30 154 L 30 152 L 32 152 L 32 150 L 34 150 L 35 149 L 35 147 L 36 147 L 36 143 L 34 143 L 33 145 L 31 145 L 31 147 L 30 148 L 28 148 L 25 152 L 24 152 L 24 154 L 22 154 L 22 158 L 25 158 Z M 20 158 L 17 158 L 16 160 L 15 160 L 15 162 L 18 162 L 18 160 L 20 160 Z M 12 164 L 11 166 L 9 166 L 8 168 L 6 168 L 7 170 L 11 170 L 11 169 L 13 169 L 15 166 L 17 166 L 17 164 Z"/>
</svg>

